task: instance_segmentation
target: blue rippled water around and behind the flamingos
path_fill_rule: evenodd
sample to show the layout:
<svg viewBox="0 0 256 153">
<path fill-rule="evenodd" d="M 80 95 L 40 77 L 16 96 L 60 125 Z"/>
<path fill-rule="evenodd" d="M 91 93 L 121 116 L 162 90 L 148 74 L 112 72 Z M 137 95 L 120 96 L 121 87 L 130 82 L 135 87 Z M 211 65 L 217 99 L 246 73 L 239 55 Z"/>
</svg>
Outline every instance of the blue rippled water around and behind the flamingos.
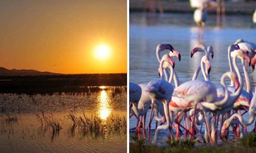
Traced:
<svg viewBox="0 0 256 153">
<path fill-rule="evenodd" d="M 173 58 L 180 83 L 191 80 L 200 64 L 201 57 L 204 55 L 203 52 L 199 52 L 194 54 L 193 58 L 190 58 L 191 49 L 200 43 L 204 43 L 206 46 L 213 46 L 214 58 L 210 59 L 210 76 L 211 81 L 217 87 L 220 87 L 222 74 L 229 71 L 228 46 L 239 38 L 256 43 L 256 26 L 252 22 L 252 16 L 226 16 L 224 28 L 218 28 L 216 27 L 216 15 L 208 15 L 203 40 L 198 40 L 197 32 L 193 14 L 164 13 L 162 15 L 152 15 L 149 13 L 130 13 L 130 81 L 137 84 L 147 84 L 150 80 L 159 79 L 157 72 L 159 62 L 156 58 L 156 46 L 158 44 L 171 44 L 176 51 L 180 52 L 181 61 L 176 57 Z M 167 53 L 167 50 L 162 51 L 161 56 Z M 237 63 L 243 75 L 241 61 L 237 60 Z M 252 91 L 254 92 L 256 72 L 251 72 L 249 68 L 248 72 L 251 78 Z M 201 73 L 198 79 L 203 80 Z M 246 89 L 245 83 L 244 89 Z M 149 113 L 150 110 L 146 122 Z M 245 119 L 248 120 L 248 115 L 245 116 Z M 130 118 L 130 128 L 135 127 L 136 123 L 135 117 Z M 154 123 L 155 120 L 152 122 L 151 130 L 155 130 Z M 248 130 L 251 128 L 251 126 L 248 126 Z M 204 126 L 202 131 L 204 131 Z M 130 134 L 134 134 L 134 131 L 130 131 Z M 165 144 L 166 134 L 167 130 L 160 131 L 158 144 Z M 153 140 L 153 136 L 154 132 L 151 132 L 151 140 Z"/>
</svg>

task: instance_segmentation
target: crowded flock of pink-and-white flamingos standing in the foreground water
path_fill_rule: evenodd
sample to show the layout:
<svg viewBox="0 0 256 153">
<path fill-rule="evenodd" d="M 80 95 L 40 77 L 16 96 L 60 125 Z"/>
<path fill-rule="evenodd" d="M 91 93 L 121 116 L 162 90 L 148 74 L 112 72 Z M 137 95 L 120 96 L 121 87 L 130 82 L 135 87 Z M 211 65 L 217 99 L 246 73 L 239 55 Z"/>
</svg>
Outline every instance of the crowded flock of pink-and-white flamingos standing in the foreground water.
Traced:
<svg viewBox="0 0 256 153">
<path fill-rule="evenodd" d="M 202 56 L 201 63 L 191 80 L 180 84 L 173 60 L 173 57 L 176 56 L 180 61 L 180 53 L 174 50 L 170 44 L 159 44 L 156 47 L 156 57 L 159 61 L 160 79 L 148 80 L 148 84 L 129 83 L 130 117 L 134 115 L 138 119 L 135 133 L 139 139 L 146 138 L 145 120 L 150 107 L 147 140 L 152 144 L 157 143 L 159 131 L 163 129 L 168 130 L 167 137 L 172 141 L 181 139 L 183 131 L 183 139 L 192 139 L 199 143 L 217 143 L 218 137 L 221 141 L 226 142 L 230 126 L 232 126 L 232 132 L 236 139 L 248 134 L 246 126 L 254 123 L 256 115 L 256 88 L 255 93 L 252 93 L 247 71 L 247 64 L 251 70 L 254 70 L 256 64 L 254 45 L 239 39 L 235 44 L 228 46 L 230 71 L 223 73 L 220 78 L 221 88 L 217 88 L 210 80 L 209 55 L 211 58 L 214 57 L 212 46 L 199 45 L 191 50 L 191 58 L 196 52 L 205 52 L 205 55 Z M 170 53 L 161 57 L 160 52 L 166 49 Z M 237 66 L 237 59 L 242 63 L 244 78 Z M 200 71 L 204 80 L 197 79 Z M 230 80 L 230 83 L 227 83 L 226 79 Z M 243 89 L 244 80 L 246 90 Z M 172 81 L 175 86 L 171 84 Z M 241 110 L 244 113 L 241 113 Z M 159 113 L 161 117 L 159 117 Z M 243 118 L 246 113 L 250 116 L 248 120 Z M 154 117 L 156 121 L 155 136 L 150 141 L 150 129 Z M 159 126 L 158 122 L 160 122 Z M 204 134 L 197 128 L 203 124 L 205 126 Z M 140 136 L 141 128 L 143 138 Z M 220 129 L 219 132 L 218 129 Z M 256 122 L 250 132 L 255 131 Z"/>
</svg>

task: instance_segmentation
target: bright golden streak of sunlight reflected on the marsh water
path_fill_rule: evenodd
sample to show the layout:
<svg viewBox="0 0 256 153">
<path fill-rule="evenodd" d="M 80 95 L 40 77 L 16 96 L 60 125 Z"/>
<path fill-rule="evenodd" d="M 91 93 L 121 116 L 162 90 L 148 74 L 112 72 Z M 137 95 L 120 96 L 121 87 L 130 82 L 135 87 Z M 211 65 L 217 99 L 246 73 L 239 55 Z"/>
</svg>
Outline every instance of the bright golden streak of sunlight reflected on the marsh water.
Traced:
<svg viewBox="0 0 256 153">
<path fill-rule="evenodd" d="M 106 120 L 109 114 L 111 113 L 111 108 L 108 103 L 110 99 L 107 95 L 107 92 L 105 90 L 102 90 L 98 99 L 99 99 L 99 107 L 98 107 L 99 117 L 103 120 Z"/>
</svg>

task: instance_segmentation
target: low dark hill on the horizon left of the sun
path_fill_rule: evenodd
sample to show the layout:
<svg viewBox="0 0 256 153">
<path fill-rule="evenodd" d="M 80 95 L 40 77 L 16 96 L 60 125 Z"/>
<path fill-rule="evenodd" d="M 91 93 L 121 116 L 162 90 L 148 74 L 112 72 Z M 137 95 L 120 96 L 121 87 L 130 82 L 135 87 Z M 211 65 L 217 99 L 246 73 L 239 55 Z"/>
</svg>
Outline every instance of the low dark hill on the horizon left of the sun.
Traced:
<svg viewBox="0 0 256 153">
<path fill-rule="evenodd" d="M 52 72 L 40 72 L 37 70 L 8 70 L 4 67 L 0 67 L 0 76 L 36 76 L 36 75 L 62 75 L 61 73 L 52 73 Z"/>
</svg>

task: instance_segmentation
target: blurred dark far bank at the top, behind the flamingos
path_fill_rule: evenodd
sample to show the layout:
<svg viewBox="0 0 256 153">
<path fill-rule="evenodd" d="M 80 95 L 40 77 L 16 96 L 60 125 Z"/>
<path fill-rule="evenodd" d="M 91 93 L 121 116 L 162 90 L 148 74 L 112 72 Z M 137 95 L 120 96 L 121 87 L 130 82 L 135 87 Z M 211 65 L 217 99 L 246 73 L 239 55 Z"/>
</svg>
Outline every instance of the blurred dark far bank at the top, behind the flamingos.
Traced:
<svg viewBox="0 0 256 153">
<path fill-rule="evenodd" d="M 190 7 L 189 1 L 161 0 L 164 13 L 194 13 L 195 8 Z M 130 12 L 143 12 L 145 1 L 130 0 Z M 239 7 L 237 7 L 239 5 Z M 225 14 L 252 15 L 256 1 L 225 1 Z M 156 12 L 159 12 L 158 1 L 156 1 Z M 146 9 L 148 12 L 148 9 Z M 208 14 L 216 14 L 216 9 L 208 11 Z"/>
</svg>

